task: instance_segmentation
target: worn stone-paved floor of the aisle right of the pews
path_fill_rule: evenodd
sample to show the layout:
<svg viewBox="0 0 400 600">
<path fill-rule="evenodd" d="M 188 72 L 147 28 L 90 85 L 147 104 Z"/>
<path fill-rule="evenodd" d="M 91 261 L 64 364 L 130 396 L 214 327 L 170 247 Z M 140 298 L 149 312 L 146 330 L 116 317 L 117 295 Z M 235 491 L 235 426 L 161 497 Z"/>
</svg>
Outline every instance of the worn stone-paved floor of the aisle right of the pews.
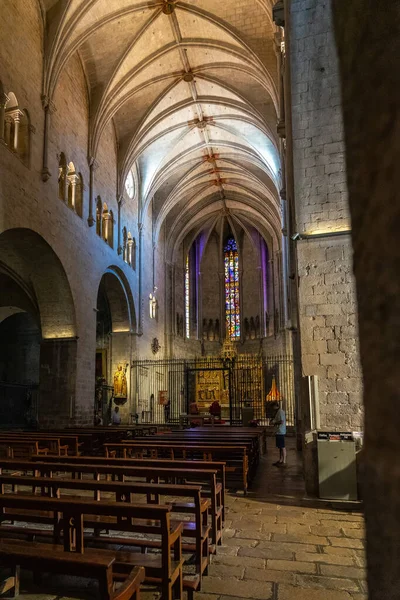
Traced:
<svg viewBox="0 0 400 600">
<path fill-rule="evenodd" d="M 269 445 L 248 496 L 228 495 L 223 545 L 195 599 L 366 600 L 362 514 L 354 506 L 345 510 L 306 500 L 294 440 L 289 440 L 286 469 L 272 466 L 272 439 Z M 25 592 L 31 593 L 21 596 L 66 600 L 96 595 L 88 581 L 54 583 L 57 595 L 38 594 L 28 585 Z M 143 600 L 157 598 L 154 591 L 142 594 Z"/>
</svg>

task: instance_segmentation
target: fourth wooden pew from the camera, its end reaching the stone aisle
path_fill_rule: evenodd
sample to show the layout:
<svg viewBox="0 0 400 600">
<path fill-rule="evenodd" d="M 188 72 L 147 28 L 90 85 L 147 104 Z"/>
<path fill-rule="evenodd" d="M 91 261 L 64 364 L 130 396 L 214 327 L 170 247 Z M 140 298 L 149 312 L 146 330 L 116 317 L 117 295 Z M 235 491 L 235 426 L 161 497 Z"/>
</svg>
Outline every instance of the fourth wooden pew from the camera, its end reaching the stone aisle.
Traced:
<svg viewBox="0 0 400 600">
<path fill-rule="evenodd" d="M 40 457 L 39 457 L 40 458 Z M 58 472 L 70 473 L 75 478 L 82 478 L 83 474 L 89 474 L 92 478 L 100 480 L 101 475 L 111 476 L 118 481 L 126 481 L 126 477 L 142 478 L 146 482 L 159 483 L 160 481 L 180 481 L 183 483 L 204 483 L 210 490 L 210 518 L 211 518 L 211 541 L 213 544 L 221 544 L 222 540 L 222 486 L 217 483 L 217 471 L 215 469 L 176 469 L 156 468 L 148 466 L 113 466 L 109 464 L 78 464 L 77 462 L 39 462 L 39 461 L 14 461 L 0 459 L 0 474 L 4 469 L 16 471 L 21 470 L 32 473 L 33 476 L 53 477 Z"/>
</svg>

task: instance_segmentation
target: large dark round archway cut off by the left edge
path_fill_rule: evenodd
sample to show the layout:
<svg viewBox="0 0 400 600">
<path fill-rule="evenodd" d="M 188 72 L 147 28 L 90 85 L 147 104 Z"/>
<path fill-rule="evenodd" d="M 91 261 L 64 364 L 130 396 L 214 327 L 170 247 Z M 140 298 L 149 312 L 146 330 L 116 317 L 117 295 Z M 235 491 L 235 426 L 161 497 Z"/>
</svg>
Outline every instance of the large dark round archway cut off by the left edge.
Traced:
<svg viewBox="0 0 400 600">
<path fill-rule="evenodd" d="M 63 266 L 29 229 L 0 234 L 0 423 L 61 426 L 75 407 L 75 310 Z"/>
</svg>

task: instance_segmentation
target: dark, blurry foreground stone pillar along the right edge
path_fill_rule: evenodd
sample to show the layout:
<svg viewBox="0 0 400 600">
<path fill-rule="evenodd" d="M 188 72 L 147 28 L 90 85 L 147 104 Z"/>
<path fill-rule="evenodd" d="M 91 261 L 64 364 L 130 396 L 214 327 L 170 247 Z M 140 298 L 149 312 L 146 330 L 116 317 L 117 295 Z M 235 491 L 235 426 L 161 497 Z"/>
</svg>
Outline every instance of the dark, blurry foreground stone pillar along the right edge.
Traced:
<svg viewBox="0 0 400 600">
<path fill-rule="evenodd" d="M 364 374 L 370 600 L 400 594 L 400 2 L 332 2 Z"/>
</svg>

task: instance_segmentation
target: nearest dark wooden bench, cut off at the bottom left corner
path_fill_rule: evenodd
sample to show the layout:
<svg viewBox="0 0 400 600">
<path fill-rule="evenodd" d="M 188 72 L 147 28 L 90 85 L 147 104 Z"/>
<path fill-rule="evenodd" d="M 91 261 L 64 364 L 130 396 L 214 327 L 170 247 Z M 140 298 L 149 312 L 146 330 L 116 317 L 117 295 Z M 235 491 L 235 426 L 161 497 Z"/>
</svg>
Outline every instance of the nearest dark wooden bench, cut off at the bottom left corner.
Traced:
<svg viewBox="0 0 400 600">
<path fill-rule="evenodd" d="M 38 572 L 60 573 L 90 577 L 99 582 L 102 600 L 140 600 L 140 584 L 144 580 L 143 567 L 133 567 L 125 582 L 117 590 L 113 573 L 114 552 L 86 550 L 84 554 L 65 552 L 62 546 L 44 545 L 20 540 L 0 540 L 0 563 L 13 571 L 12 577 L 0 583 L 0 593 L 13 589 L 19 595 L 20 568 Z"/>
</svg>

